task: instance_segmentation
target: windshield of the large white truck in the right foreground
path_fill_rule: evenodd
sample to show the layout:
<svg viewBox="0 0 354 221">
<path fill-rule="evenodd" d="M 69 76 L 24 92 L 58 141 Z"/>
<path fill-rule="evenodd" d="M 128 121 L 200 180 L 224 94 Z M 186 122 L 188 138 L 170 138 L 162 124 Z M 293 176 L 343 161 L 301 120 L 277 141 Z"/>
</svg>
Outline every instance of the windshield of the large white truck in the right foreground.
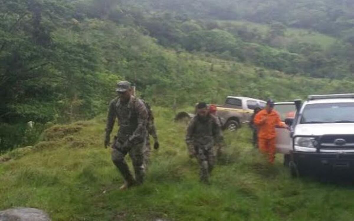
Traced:
<svg viewBox="0 0 354 221">
<path fill-rule="evenodd" d="M 354 103 L 307 104 L 300 124 L 354 123 Z"/>
</svg>

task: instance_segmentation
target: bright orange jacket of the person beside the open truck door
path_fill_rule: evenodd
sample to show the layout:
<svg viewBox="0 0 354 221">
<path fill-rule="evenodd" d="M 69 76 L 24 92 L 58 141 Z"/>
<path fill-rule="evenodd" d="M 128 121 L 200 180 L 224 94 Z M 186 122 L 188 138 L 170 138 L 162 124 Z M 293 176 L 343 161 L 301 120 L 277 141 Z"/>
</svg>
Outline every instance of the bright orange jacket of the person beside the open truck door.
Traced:
<svg viewBox="0 0 354 221">
<path fill-rule="evenodd" d="M 262 120 L 267 117 L 265 122 Z M 267 110 L 261 110 L 257 113 L 253 120 L 255 125 L 258 126 L 258 138 L 272 139 L 275 137 L 275 127 L 285 127 L 285 124 L 281 122 L 278 112 L 272 110 L 268 114 Z"/>
</svg>

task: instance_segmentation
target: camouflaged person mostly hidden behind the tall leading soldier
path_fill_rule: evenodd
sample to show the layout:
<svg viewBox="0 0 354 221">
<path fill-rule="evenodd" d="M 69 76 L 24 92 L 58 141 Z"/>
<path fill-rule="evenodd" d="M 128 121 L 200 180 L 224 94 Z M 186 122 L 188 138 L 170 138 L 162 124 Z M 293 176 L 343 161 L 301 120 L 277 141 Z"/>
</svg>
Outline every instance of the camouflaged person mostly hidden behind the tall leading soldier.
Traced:
<svg viewBox="0 0 354 221">
<path fill-rule="evenodd" d="M 149 165 L 149 158 L 150 158 L 150 151 L 151 151 L 151 146 L 150 146 L 150 136 L 151 135 L 154 138 L 154 149 L 157 150 L 160 147 L 159 144 L 159 139 L 157 137 L 157 133 L 156 133 L 156 127 L 154 124 L 154 115 L 152 112 L 152 109 L 149 105 L 149 103 L 145 102 L 143 100 L 146 110 L 148 112 L 148 121 L 147 121 L 147 130 L 148 130 L 148 135 L 147 135 L 147 139 L 146 139 L 146 145 L 145 145 L 145 149 L 144 149 L 144 167 L 145 170 L 147 170 L 147 167 Z"/>
</svg>

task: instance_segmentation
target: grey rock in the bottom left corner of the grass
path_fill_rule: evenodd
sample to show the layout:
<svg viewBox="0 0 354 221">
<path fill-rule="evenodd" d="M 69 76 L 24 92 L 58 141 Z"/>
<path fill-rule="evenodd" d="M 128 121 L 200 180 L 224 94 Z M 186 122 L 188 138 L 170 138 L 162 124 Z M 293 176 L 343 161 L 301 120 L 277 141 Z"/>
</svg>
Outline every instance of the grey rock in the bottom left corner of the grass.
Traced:
<svg viewBox="0 0 354 221">
<path fill-rule="evenodd" d="M 0 211 L 0 221 L 51 221 L 48 214 L 34 208 L 14 208 Z"/>
</svg>

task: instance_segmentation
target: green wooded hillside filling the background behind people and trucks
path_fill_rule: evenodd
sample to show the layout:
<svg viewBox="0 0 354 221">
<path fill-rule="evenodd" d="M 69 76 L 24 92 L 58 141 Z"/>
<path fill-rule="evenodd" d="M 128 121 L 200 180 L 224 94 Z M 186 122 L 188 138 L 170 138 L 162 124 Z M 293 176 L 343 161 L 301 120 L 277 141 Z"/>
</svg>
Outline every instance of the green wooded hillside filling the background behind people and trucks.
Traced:
<svg viewBox="0 0 354 221">
<path fill-rule="evenodd" d="M 0 0 L 0 152 L 104 112 L 119 79 L 175 109 L 350 92 L 354 6 L 336 2 Z"/>
</svg>

